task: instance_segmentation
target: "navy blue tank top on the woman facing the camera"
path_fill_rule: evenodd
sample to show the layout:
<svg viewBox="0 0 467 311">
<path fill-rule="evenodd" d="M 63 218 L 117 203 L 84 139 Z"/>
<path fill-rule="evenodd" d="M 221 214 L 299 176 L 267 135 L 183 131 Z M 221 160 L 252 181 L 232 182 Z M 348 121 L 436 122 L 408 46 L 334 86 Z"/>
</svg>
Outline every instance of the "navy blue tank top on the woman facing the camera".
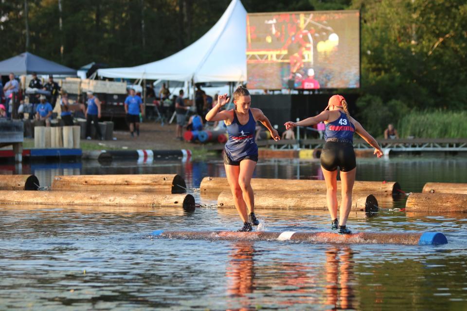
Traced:
<svg viewBox="0 0 467 311">
<path fill-rule="evenodd" d="M 249 119 L 247 124 L 242 125 L 238 122 L 237 114 L 234 109 L 234 121 L 227 125 L 229 140 L 225 144 L 225 153 L 232 161 L 240 161 L 247 155 L 257 155 L 258 146 L 254 142 L 254 133 L 256 131 L 256 121 L 254 121 L 251 109 L 248 111 Z"/>
</svg>

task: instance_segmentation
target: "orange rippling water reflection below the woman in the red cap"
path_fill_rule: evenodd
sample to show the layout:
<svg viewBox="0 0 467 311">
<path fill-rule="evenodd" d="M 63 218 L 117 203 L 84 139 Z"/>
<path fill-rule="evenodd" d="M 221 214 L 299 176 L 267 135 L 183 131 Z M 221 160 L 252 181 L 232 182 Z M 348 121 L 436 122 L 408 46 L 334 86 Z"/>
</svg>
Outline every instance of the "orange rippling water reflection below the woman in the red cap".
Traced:
<svg viewBox="0 0 467 311">
<path fill-rule="evenodd" d="M 340 256 L 339 256 L 340 255 Z M 355 262 L 350 247 L 330 247 L 326 250 L 326 305 L 330 310 L 352 310 L 354 294 L 350 282 L 353 280 Z"/>
</svg>

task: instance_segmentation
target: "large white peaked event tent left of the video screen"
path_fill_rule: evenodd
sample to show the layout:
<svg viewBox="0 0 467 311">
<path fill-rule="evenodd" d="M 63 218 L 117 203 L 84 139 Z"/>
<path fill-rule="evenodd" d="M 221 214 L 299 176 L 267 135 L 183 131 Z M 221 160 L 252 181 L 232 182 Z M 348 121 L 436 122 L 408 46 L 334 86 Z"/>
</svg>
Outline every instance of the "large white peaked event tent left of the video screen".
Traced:
<svg viewBox="0 0 467 311">
<path fill-rule="evenodd" d="M 180 52 L 140 66 L 98 69 L 97 75 L 194 83 L 246 81 L 246 17 L 240 0 L 232 0 L 206 34 Z"/>
</svg>

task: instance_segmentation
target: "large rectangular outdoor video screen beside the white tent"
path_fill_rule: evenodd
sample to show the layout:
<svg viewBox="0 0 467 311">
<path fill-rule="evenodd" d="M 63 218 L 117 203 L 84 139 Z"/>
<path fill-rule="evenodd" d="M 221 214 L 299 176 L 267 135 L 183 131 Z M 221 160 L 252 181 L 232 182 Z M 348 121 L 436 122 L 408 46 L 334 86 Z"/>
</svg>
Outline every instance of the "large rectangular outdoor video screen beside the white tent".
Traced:
<svg viewBox="0 0 467 311">
<path fill-rule="evenodd" d="M 359 11 L 247 15 L 248 88 L 360 87 Z"/>
</svg>

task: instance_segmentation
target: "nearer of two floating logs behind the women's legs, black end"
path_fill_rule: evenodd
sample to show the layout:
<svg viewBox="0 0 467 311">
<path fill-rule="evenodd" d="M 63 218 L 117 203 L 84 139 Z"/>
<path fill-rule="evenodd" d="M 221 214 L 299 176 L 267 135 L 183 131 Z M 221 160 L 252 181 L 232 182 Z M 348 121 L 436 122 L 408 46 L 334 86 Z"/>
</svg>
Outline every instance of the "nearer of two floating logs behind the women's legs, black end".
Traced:
<svg viewBox="0 0 467 311">
<path fill-rule="evenodd" d="M 224 190 L 217 198 L 217 207 L 235 207 L 231 190 Z M 310 192 L 254 191 L 254 208 L 289 208 L 327 210 L 326 195 Z M 339 207 L 338 207 L 339 208 Z M 352 195 L 352 211 L 373 213 L 378 201 L 373 195 Z"/>
</svg>

